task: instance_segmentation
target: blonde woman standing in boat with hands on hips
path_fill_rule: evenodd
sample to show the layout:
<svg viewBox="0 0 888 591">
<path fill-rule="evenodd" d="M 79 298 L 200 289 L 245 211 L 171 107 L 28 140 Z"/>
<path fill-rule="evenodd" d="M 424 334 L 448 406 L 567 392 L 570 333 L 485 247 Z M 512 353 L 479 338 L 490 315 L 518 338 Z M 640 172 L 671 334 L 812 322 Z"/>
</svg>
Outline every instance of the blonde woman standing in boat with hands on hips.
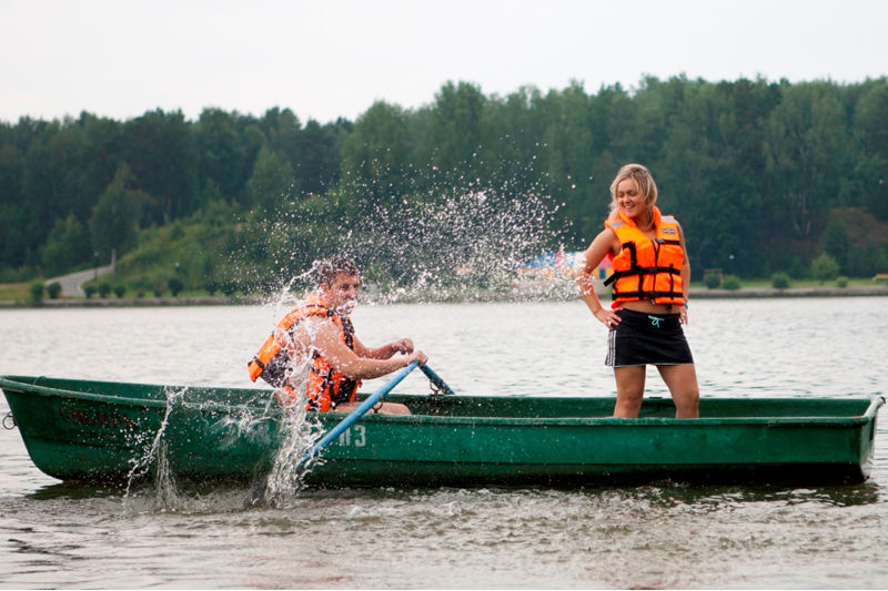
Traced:
<svg viewBox="0 0 888 591">
<path fill-rule="evenodd" d="M 579 272 L 583 299 L 607 326 L 607 358 L 617 386 L 615 417 L 634 418 L 642 408 L 647 364 L 657 366 L 675 403 L 676 418 L 699 416 L 694 358 L 687 324 L 690 264 L 682 226 L 655 205 L 657 185 L 640 164 L 626 164 L 610 183 L 610 215 L 586 249 Z M 592 274 L 607 256 L 614 274 L 612 309 L 602 306 Z"/>
</svg>

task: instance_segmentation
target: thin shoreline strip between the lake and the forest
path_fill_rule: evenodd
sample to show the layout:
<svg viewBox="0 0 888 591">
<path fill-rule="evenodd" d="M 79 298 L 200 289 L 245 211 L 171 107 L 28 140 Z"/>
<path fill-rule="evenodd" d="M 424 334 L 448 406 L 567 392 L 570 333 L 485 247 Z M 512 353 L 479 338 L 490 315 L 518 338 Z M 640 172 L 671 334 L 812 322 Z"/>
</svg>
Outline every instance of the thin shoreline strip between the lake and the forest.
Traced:
<svg viewBox="0 0 888 591">
<path fill-rule="evenodd" d="M 599 292 L 599 297 L 607 297 L 609 292 Z M 376 300 L 379 294 L 371 294 L 370 299 Z M 855 287 L 796 287 L 775 289 L 773 287 L 741 287 L 740 289 L 708 289 L 692 288 L 689 299 L 750 299 L 750 298 L 787 298 L 787 297 L 886 297 L 888 285 L 855 286 Z M 430 299 L 423 297 L 395 297 L 389 299 L 392 304 L 415 303 L 470 303 L 470 302 L 564 302 L 573 299 L 569 296 L 557 296 L 541 293 L 500 293 L 481 292 L 466 298 L 464 294 L 452 294 L 450 297 Z M 579 296 L 576 295 L 579 300 Z M 196 296 L 196 297 L 141 297 L 141 298 L 94 298 L 94 299 L 44 299 L 40 304 L 22 302 L 0 302 L 0 309 L 21 308 L 102 308 L 102 307 L 155 307 L 155 306 L 253 306 L 262 305 L 269 296 Z"/>
</svg>

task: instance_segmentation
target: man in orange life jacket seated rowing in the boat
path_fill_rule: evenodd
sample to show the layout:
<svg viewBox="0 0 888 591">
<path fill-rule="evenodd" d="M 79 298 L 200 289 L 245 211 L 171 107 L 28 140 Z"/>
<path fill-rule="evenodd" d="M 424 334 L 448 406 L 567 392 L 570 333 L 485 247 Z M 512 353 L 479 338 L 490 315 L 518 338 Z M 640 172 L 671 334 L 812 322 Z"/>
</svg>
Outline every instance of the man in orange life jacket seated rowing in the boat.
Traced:
<svg viewBox="0 0 888 591">
<path fill-rule="evenodd" d="M 361 343 L 350 317 L 361 285 L 351 258 L 324 261 L 316 273 L 317 291 L 278 323 L 248 364 L 250 379 L 261 377 L 271 384 L 283 406 L 297 404 L 299 393 L 304 391 L 309 410 L 350 412 L 359 406 L 355 394 L 362 379 L 391 374 L 413 361 L 423 365 L 428 357 L 414 349 L 410 338 L 375 348 Z M 381 401 L 373 411 L 410 415 L 406 406 L 395 403 Z"/>
</svg>

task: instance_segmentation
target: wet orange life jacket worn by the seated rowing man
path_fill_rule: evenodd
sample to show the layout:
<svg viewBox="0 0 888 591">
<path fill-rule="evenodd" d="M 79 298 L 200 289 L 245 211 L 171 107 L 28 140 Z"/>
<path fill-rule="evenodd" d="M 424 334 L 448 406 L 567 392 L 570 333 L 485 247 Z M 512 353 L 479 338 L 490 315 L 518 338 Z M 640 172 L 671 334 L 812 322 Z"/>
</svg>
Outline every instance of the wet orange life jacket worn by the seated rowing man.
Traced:
<svg viewBox="0 0 888 591">
<path fill-rule="evenodd" d="M 295 336 L 295 330 L 301 320 L 313 316 L 330 318 L 339 328 L 340 338 L 345 346 L 354 350 L 354 326 L 351 318 L 336 314 L 325 307 L 316 295 L 312 295 L 304 306 L 293 308 L 278 323 L 271 336 L 246 365 L 251 380 L 255 381 L 261 377 L 275 388 L 284 390 L 291 398 L 297 396 L 287 379 L 293 364 L 299 361 L 304 349 Z M 360 379 L 345 377 L 320 353 L 316 350 L 312 353 L 312 366 L 305 384 L 310 410 L 325 412 L 339 404 L 351 403 L 360 385 Z"/>
</svg>

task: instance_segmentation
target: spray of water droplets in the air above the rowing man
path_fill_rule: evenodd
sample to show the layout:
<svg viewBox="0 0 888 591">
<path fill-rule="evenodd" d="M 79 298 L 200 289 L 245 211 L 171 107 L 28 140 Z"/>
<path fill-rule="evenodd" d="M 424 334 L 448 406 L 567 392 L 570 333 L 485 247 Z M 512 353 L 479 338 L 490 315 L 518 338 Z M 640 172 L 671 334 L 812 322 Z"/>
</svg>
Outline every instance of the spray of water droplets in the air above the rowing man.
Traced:
<svg viewBox="0 0 888 591">
<path fill-rule="evenodd" d="M 430 171 L 431 187 L 403 195 L 343 182 L 324 196 L 289 197 L 261 218 L 254 212 L 230 273 L 271 299 L 304 286 L 313 262 L 339 253 L 355 258 L 374 300 L 477 299 L 515 295 L 522 264 L 563 247 L 564 231 L 553 230 L 561 205 L 538 187 L 438 176 Z"/>
</svg>

